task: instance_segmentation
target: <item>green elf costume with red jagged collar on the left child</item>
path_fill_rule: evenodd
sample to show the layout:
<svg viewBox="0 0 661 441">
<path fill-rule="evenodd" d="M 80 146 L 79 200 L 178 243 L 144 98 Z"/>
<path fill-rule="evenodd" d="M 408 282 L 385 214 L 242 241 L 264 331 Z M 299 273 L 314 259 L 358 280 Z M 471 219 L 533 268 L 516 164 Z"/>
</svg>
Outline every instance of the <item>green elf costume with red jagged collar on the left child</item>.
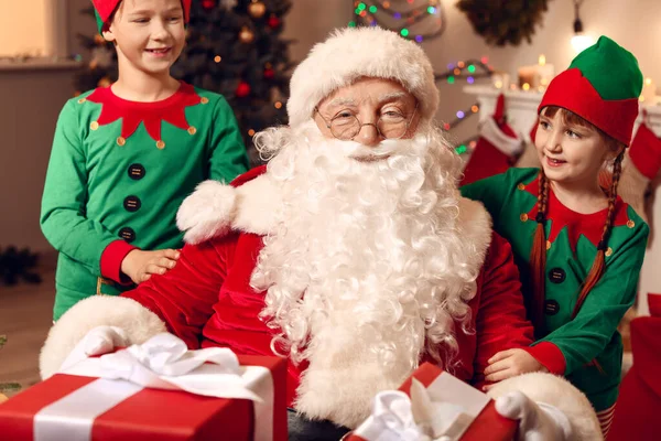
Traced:
<svg viewBox="0 0 661 441">
<path fill-rule="evenodd" d="M 94 0 L 99 32 L 121 0 Z M 182 2 L 185 21 L 191 1 Z M 181 83 L 171 97 L 129 101 L 110 87 L 64 106 L 53 141 L 41 227 L 59 252 L 54 320 L 93 294 L 132 288 L 121 261 L 134 248 L 181 248 L 175 216 L 207 179 L 229 182 L 248 157 L 221 95 Z"/>
</svg>

